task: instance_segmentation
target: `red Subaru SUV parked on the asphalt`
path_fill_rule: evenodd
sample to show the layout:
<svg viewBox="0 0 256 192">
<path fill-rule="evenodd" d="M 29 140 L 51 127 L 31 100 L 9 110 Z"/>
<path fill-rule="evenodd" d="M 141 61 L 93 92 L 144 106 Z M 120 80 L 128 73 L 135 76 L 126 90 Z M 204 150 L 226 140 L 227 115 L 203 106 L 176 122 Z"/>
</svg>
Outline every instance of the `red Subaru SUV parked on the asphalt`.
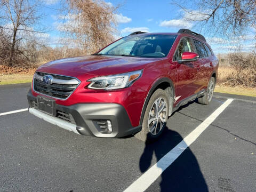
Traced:
<svg viewBox="0 0 256 192">
<path fill-rule="evenodd" d="M 139 31 L 93 55 L 39 67 L 29 112 L 77 134 L 154 140 L 180 106 L 210 103 L 217 71 L 202 35 Z"/>
</svg>

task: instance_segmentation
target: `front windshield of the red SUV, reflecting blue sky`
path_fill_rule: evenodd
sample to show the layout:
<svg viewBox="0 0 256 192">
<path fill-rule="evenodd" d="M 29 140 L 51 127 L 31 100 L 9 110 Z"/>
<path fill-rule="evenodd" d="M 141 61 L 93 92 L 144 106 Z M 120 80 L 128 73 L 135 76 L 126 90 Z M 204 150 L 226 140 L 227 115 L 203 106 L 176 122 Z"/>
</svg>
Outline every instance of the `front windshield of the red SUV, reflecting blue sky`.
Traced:
<svg viewBox="0 0 256 192">
<path fill-rule="evenodd" d="M 98 54 L 150 58 L 166 57 L 176 36 L 157 34 L 131 35 L 110 44 Z"/>
</svg>

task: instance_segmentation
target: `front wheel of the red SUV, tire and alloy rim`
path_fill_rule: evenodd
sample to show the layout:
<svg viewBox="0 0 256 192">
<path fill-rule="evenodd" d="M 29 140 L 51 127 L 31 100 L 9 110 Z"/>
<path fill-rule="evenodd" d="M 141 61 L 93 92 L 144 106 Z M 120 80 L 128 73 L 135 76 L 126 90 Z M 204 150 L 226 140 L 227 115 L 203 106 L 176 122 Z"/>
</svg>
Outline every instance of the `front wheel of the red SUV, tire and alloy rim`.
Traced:
<svg viewBox="0 0 256 192">
<path fill-rule="evenodd" d="M 162 134 L 169 114 L 167 93 L 157 89 L 150 97 L 143 117 L 142 130 L 135 137 L 145 142 L 153 142 Z"/>
</svg>

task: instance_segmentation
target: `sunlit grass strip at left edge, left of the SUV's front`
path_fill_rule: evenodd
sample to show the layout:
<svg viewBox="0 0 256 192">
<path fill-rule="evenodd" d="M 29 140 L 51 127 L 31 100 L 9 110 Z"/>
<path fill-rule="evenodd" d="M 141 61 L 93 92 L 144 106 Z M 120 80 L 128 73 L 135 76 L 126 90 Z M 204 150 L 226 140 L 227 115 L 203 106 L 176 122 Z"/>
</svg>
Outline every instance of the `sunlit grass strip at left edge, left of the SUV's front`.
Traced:
<svg viewBox="0 0 256 192">
<path fill-rule="evenodd" d="M 33 75 L 27 74 L 0 75 L 0 85 L 30 83 L 32 79 Z"/>
</svg>

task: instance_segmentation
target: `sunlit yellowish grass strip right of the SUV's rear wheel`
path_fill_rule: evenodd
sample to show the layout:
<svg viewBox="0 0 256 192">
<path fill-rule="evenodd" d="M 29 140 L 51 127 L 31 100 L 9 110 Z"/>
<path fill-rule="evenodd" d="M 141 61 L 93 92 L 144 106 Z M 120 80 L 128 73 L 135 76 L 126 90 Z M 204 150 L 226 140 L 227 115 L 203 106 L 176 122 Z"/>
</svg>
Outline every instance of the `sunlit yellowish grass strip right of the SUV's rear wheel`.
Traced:
<svg viewBox="0 0 256 192">
<path fill-rule="evenodd" d="M 229 86 L 216 85 L 214 92 L 256 97 L 256 90 L 244 89 L 243 87 L 239 87 L 239 86 L 229 87 Z"/>
</svg>

